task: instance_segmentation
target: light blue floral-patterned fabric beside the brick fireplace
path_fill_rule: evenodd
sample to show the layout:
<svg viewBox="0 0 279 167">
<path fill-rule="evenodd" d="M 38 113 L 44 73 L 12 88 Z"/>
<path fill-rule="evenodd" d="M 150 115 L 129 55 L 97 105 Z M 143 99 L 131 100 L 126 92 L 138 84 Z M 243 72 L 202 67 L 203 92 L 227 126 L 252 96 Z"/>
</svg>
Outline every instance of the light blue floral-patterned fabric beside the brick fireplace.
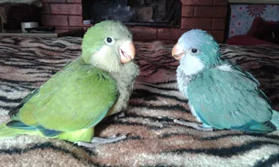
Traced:
<svg viewBox="0 0 279 167">
<path fill-rule="evenodd" d="M 262 17 L 265 21 L 279 21 L 279 5 L 231 4 L 230 8 L 229 37 L 245 35 L 255 17 Z"/>
</svg>

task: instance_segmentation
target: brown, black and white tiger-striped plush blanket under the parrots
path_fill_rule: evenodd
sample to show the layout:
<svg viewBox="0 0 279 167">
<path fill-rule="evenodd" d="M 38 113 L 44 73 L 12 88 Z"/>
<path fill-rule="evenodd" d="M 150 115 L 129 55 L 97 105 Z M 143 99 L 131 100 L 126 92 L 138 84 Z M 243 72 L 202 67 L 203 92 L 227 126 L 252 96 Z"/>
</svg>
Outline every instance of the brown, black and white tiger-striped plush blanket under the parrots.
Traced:
<svg viewBox="0 0 279 167">
<path fill-rule="evenodd" d="M 80 56 L 81 38 L 0 38 L 0 122 L 22 98 Z M 173 119 L 195 121 L 176 85 L 173 45 L 135 42 L 140 65 L 123 118 L 107 118 L 96 136 L 128 134 L 89 149 L 38 136 L 0 139 L 0 166 L 279 166 L 279 133 L 199 132 Z M 251 72 L 279 110 L 279 47 L 220 45 L 223 58 Z"/>
</svg>

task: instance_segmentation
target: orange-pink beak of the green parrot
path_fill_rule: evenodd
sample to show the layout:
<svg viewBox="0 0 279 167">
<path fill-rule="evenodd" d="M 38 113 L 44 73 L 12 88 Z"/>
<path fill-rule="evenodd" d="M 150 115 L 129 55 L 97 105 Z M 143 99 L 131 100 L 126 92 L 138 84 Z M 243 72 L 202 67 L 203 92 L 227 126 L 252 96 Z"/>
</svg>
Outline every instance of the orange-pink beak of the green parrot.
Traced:
<svg viewBox="0 0 279 167">
<path fill-rule="evenodd" d="M 128 63 L 135 58 L 135 45 L 131 41 L 124 42 L 119 47 L 121 63 Z"/>
</svg>

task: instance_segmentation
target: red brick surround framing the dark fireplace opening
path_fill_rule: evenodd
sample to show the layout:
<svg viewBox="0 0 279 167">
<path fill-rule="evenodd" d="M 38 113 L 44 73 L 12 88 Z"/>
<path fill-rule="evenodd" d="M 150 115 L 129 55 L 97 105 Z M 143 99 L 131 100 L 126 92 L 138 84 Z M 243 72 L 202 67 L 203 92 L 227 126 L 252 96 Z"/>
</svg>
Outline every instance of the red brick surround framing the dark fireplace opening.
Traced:
<svg viewBox="0 0 279 167">
<path fill-rule="evenodd" d="M 82 0 L 41 0 L 43 26 L 56 29 L 86 29 L 90 25 L 82 21 Z M 218 42 L 223 42 L 227 0 L 181 0 L 180 29 L 130 26 L 135 40 L 163 40 L 176 42 L 190 29 L 203 29 L 211 33 Z"/>
</svg>

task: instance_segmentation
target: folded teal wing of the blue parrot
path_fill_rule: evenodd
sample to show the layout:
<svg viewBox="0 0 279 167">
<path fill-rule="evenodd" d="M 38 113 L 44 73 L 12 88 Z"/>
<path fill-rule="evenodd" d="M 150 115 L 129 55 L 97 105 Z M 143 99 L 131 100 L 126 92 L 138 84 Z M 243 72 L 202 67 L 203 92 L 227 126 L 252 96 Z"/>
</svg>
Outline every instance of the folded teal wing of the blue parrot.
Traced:
<svg viewBox="0 0 279 167">
<path fill-rule="evenodd" d="M 211 69 L 191 82 L 188 97 L 197 116 L 216 129 L 272 132 L 272 111 L 252 74 L 232 67 L 233 72 Z"/>
</svg>

